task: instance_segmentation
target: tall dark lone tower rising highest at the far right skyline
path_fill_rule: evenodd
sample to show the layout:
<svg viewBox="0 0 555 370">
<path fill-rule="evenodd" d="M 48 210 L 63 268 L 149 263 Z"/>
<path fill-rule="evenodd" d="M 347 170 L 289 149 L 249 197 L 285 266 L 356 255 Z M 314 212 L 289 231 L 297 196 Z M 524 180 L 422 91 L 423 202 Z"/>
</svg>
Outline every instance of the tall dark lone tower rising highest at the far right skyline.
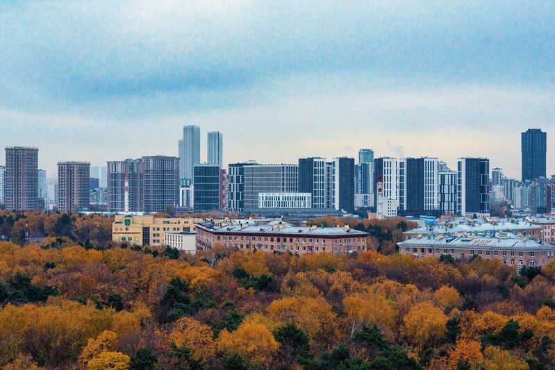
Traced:
<svg viewBox="0 0 555 370">
<path fill-rule="evenodd" d="M 547 133 L 529 128 L 521 134 L 522 182 L 545 177 Z"/>
</svg>

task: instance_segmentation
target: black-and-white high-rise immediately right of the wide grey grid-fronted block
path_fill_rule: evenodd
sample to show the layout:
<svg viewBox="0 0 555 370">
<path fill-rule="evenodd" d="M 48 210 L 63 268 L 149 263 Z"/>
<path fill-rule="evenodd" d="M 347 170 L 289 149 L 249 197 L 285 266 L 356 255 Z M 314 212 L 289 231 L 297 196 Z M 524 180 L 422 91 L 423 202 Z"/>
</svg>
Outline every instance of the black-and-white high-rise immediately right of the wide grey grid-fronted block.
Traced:
<svg viewBox="0 0 555 370">
<path fill-rule="evenodd" d="M 326 208 L 326 160 L 299 158 L 299 193 L 310 193 L 312 208 Z"/>
</svg>

